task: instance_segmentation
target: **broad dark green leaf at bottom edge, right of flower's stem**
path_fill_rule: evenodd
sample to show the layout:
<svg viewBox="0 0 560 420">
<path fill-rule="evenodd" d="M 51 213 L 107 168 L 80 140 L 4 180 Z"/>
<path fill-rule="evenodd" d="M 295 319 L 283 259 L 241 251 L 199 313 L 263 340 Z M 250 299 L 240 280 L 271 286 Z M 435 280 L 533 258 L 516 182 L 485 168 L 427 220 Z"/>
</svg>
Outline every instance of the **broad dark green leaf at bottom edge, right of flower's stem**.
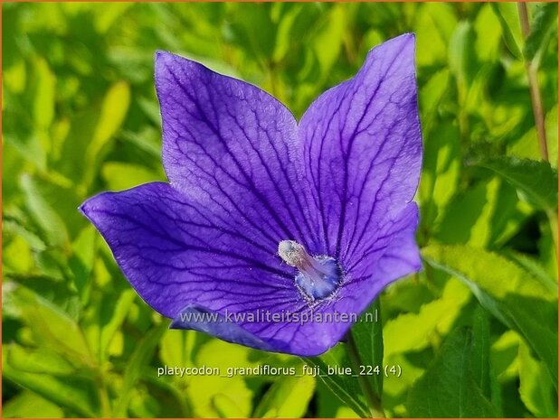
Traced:
<svg viewBox="0 0 560 420">
<path fill-rule="evenodd" d="M 482 395 L 470 369 L 472 331 L 451 333 L 408 396 L 413 417 L 491 417 L 495 410 Z"/>
</svg>

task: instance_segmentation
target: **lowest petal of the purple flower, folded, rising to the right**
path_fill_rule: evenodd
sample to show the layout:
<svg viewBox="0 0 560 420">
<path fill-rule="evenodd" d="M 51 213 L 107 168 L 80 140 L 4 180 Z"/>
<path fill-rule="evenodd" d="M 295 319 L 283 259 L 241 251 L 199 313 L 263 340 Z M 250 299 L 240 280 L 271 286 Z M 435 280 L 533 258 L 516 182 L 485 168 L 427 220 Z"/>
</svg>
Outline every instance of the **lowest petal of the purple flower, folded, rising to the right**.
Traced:
<svg viewBox="0 0 560 420">
<path fill-rule="evenodd" d="M 389 243 L 371 250 L 353 266 L 353 277 L 346 279 L 346 283 L 331 298 L 291 309 L 284 307 L 280 311 L 267 311 L 263 307 L 256 312 L 242 313 L 260 313 L 261 317 L 267 314 L 272 317 L 278 313 L 284 317 L 280 322 L 262 322 L 262 319 L 250 322 L 244 318 L 244 322 L 235 323 L 206 308 L 188 306 L 176 316 L 172 328 L 204 331 L 222 340 L 259 350 L 309 357 L 322 354 L 344 338 L 384 287 L 421 269 L 422 261 L 414 238 L 417 226 L 418 206 L 410 203 L 403 217 L 385 231 L 384 236 L 389 238 Z M 372 261 L 375 263 L 372 264 Z M 185 322 L 184 313 L 192 317 L 189 322 Z M 204 313 L 206 317 L 197 320 L 192 313 Z M 238 313 L 231 314 L 235 320 Z M 189 319 L 188 316 L 186 319 Z"/>
</svg>

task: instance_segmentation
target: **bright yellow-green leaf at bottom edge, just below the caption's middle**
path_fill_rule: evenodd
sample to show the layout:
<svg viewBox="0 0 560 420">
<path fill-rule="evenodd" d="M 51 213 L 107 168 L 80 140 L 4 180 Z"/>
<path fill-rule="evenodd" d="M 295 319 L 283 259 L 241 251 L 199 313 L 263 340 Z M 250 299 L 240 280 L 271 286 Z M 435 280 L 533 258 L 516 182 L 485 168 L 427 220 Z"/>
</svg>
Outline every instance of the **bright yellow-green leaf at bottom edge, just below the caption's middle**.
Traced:
<svg viewBox="0 0 560 420">
<path fill-rule="evenodd" d="M 253 417 L 299 418 L 305 415 L 309 400 L 315 391 L 315 379 L 309 375 L 284 376 L 277 379 L 261 403 L 255 408 Z"/>
</svg>

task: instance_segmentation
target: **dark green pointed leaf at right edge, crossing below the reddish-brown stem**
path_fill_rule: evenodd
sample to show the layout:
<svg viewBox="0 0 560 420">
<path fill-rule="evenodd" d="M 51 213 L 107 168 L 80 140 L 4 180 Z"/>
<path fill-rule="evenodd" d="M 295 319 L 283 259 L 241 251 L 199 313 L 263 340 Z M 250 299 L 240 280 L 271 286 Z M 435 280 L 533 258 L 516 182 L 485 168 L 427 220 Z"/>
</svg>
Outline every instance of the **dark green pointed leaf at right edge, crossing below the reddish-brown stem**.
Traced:
<svg viewBox="0 0 560 420">
<path fill-rule="evenodd" d="M 544 161 L 502 156 L 479 163 L 497 173 L 519 191 L 522 198 L 538 209 L 558 206 L 558 173 Z"/>
</svg>

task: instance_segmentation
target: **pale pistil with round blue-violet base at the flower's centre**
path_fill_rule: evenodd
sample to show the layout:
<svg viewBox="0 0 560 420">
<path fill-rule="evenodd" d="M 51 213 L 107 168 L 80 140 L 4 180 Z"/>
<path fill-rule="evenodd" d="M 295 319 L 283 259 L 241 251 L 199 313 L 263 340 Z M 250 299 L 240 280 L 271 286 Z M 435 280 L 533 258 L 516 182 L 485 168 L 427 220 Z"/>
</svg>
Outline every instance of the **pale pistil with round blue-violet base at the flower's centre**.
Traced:
<svg viewBox="0 0 560 420">
<path fill-rule="evenodd" d="M 342 279 L 342 269 L 332 257 L 311 257 L 295 240 L 281 240 L 278 254 L 289 266 L 298 268 L 296 285 L 311 300 L 332 294 Z"/>
</svg>

